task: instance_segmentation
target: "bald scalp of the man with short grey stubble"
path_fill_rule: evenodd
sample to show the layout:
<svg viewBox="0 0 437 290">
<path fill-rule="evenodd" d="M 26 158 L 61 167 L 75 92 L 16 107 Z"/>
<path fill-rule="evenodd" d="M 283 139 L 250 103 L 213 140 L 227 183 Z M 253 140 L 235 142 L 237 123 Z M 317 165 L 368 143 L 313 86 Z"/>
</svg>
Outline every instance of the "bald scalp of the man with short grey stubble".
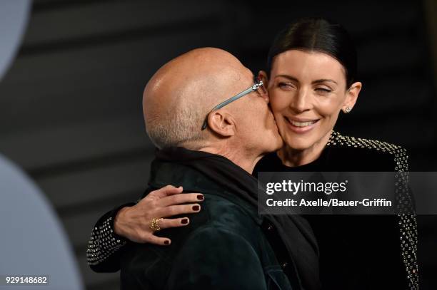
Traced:
<svg viewBox="0 0 437 290">
<path fill-rule="evenodd" d="M 239 93 L 248 69 L 218 48 L 198 48 L 162 66 L 147 83 L 143 110 L 146 130 L 159 147 L 201 142 L 209 110 Z"/>
</svg>

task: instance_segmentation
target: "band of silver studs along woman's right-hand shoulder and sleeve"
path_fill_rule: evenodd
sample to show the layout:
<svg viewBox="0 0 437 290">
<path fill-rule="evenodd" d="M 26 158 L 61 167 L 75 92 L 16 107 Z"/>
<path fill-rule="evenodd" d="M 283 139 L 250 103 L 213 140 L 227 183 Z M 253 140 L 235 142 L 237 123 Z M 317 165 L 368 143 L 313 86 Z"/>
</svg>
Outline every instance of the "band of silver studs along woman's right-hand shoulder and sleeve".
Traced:
<svg viewBox="0 0 437 290">
<path fill-rule="evenodd" d="M 346 108 L 347 110 L 347 108 Z M 349 110 L 350 111 L 350 110 Z M 348 113 L 348 112 L 346 112 Z M 417 264 L 417 220 L 413 211 L 413 202 L 408 190 L 408 155 L 402 147 L 381 142 L 378 140 L 368 140 L 363 138 L 353 138 L 343 136 L 336 131 L 332 131 L 326 146 L 330 147 L 360 147 L 369 150 L 378 150 L 393 155 L 394 171 L 397 178 L 396 200 L 398 207 L 398 229 L 399 243 L 401 245 L 401 258 L 406 269 L 408 288 L 418 289 L 418 264 Z"/>
</svg>

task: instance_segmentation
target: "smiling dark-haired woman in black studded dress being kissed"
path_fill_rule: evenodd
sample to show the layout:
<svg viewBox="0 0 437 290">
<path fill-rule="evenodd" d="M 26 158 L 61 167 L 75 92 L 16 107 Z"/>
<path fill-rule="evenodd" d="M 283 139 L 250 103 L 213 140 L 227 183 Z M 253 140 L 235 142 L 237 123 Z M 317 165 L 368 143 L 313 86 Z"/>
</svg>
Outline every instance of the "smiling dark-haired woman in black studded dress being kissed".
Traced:
<svg viewBox="0 0 437 290">
<path fill-rule="evenodd" d="M 268 84 L 284 146 L 258 162 L 255 175 L 261 171 L 408 170 L 401 147 L 333 131 L 340 111 L 351 112 L 362 87 L 356 81 L 355 48 L 338 24 L 301 19 L 288 26 L 273 42 L 267 70 L 259 77 Z M 306 218 L 319 246 L 323 288 L 417 289 L 415 217 Z M 111 252 L 116 249 L 119 246 Z"/>
</svg>

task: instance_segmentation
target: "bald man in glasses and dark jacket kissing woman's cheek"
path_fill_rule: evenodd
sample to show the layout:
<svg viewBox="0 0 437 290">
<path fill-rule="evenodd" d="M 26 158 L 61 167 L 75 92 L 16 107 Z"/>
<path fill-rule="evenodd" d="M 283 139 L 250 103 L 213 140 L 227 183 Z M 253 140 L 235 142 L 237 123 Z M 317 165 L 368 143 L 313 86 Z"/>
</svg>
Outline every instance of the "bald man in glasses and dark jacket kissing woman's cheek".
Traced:
<svg viewBox="0 0 437 290">
<path fill-rule="evenodd" d="M 291 289 L 297 284 L 275 221 L 257 214 L 253 167 L 282 145 L 262 83 L 230 53 L 199 48 L 155 73 L 143 107 L 146 131 L 159 148 L 144 200 L 155 214 L 151 230 L 162 229 L 156 235 L 171 245 L 134 241 L 111 256 L 114 270 L 121 267 L 122 289 Z M 174 205 L 175 193 L 179 203 L 204 201 L 189 204 L 198 212 L 181 218 L 189 226 L 169 229 L 176 227 L 170 222 L 179 221 L 169 216 L 189 213 L 186 204 Z M 139 212 L 136 207 L 119 214 Z M 111 236 L 114 219 L 105 222 L 91 237 L 91 265 L 106 259 L 99 257 L 99 244 L 119 249 Z"/>
</svg>

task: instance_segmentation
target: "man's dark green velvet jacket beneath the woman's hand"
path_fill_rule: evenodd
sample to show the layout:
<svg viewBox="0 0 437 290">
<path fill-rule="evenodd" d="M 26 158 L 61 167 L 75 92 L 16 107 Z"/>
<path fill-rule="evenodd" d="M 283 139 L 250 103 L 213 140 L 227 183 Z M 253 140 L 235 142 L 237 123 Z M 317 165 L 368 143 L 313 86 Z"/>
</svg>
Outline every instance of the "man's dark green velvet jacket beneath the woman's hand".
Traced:
<svg viewBox="0 0 437 290">
<path fill-rule="evenodd" d="M 224 157 L 218 158 L 223 166 L 228 162 L 236 170 L 234 173 L 241 174 L 241 182 L 248 178 L 256 186 L 256 180 L 247 172 Z M 202 168 L 205 172 L 200 171 Z M 283 245 L 275 239 L 272 225 L 244 200 L 244 193 L 241 196 L 226 186 L 231 180 L 214 176 L 214 170 L 206 174 L 206 170 L 209 168 L 194 169 L 171 160 L 154 160 L 149 191 L 181 185 L 185 192 L 203 193 L 205 200 L 201 212 L 191 215 L 188 227 L 157 233 L 169 237 L 171 246 L 124 246 L 120 255 L 121 289 L 291 289 L 291 284 L 298 289 L 289 259 L 281 254 L 280 263 L 276 258 L 273 249 Z M 274 244 L 268 237 L 273 238 Z"/>
</svg>

